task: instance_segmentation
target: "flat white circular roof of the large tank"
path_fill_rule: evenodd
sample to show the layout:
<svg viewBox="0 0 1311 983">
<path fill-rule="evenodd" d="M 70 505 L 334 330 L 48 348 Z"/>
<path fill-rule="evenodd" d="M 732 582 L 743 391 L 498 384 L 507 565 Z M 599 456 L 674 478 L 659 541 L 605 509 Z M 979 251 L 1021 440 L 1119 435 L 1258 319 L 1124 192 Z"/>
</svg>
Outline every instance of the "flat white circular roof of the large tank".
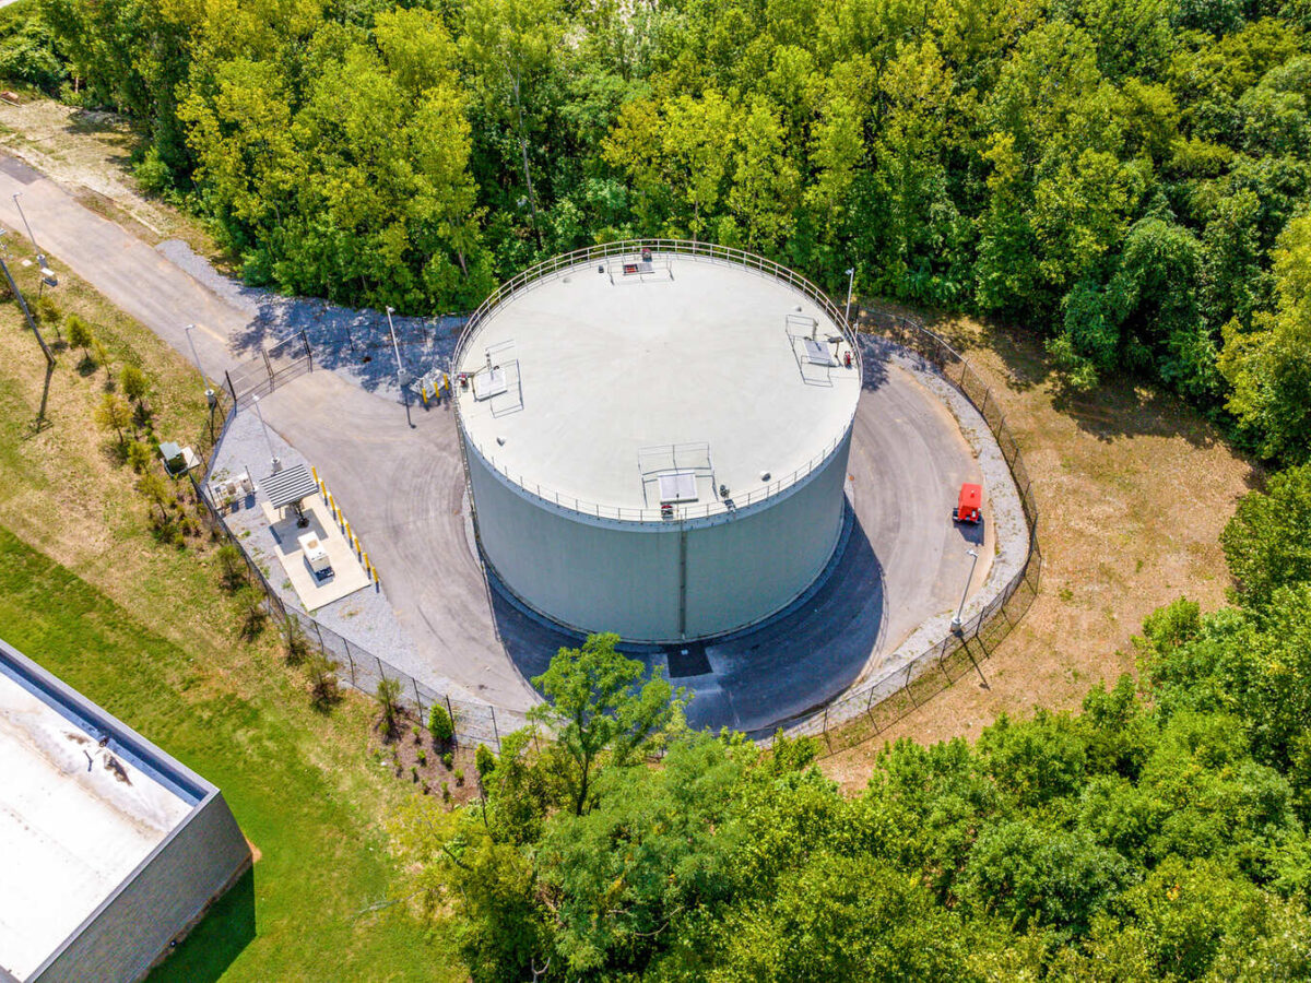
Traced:
<svg viewBox="0 0 1311 983">
<path fill-rule="evenodd" d="M 484 457 L 534 494 L 625 519 L 658 518 L 662 488 L 688 515 L 718 510 L 721 485 L 742 507 L 823 460 L 860 372 L 815 300 L 722 260 L 623 265 L 551 274 L 475 325 L 455 366 L 471 384 L 455 391 Z M 691 472 L 696 499 L 688 478 L 659 480 L 673 472 Z"/>
</svg>

